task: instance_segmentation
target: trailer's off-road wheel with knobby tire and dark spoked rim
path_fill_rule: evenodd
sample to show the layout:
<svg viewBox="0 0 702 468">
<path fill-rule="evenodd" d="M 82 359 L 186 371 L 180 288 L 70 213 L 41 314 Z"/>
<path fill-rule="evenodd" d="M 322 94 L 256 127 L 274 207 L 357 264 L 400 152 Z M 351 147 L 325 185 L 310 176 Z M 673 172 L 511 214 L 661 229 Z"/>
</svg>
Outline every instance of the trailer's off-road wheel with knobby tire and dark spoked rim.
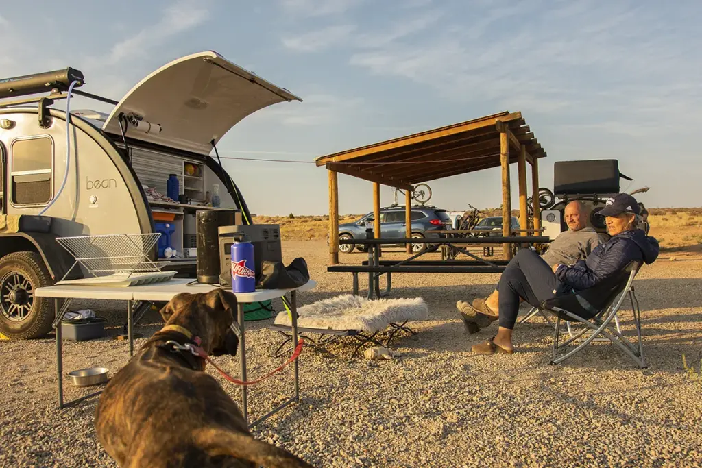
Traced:
<svg viewBox="0 0 702 468">
<path fill-rule="evenodd" d="M 51 274 L 38 253 L 15 252 L 1 258 L 0 333 L 12 340 L 47 335 L 54 319 L 51 300 L 34 297 L 34 290 L 51 284 Z"/>
</svg>

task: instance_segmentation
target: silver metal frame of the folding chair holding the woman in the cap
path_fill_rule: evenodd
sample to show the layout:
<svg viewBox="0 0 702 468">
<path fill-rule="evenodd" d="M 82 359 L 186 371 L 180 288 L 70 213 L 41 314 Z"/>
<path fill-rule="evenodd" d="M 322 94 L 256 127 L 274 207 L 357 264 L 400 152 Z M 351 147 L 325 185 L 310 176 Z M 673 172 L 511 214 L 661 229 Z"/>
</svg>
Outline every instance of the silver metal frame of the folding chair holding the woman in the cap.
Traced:
<svg viewBox="0 0 702 468">
<path fill-rule="evenodd" d="M 552 307 L 551 309 L 542 307 L 539 309 L 543 310 L 544 312 L 554 314 L 556 316 L 555 331 L 553 334 L 553 360 L 551 361 L 552 364 L 562 363 L 563 361 L 565 361 L 566 359 L 583 349 L 585 346 L 589 345 L 590 342 L 595 340 L 596 337 L 602 335 L 603 337 L 607 338 L 607 340 L 613 342 L 615 345 L 620 347 L 623 350 L 623 352 L 625 352 L 625 354 L 627 354 L 637 364 L 637 366 L 639 366 L 640 368 L 648 367 L 646 359 L 644 357 L 644 348 L 641 339 L 641 310 L 639 308 L 639 301 L 636 298 L 633 286 L 634 278 L 637 272 L 639 271 L 640 266 L 641 264 L 636 262 L 633 264 L 632 267 L 630 267 L 631 271 L 629 274 L 629 279 L 626 282 L 626 285 L 624 286 L 621 293 L 616 295 L 614 297 L 614 300 L 612 300 L 612 302 L 609 305 L 607 305 L 607 307 L 601 309 L 600 312 L 591 319 L 583 319 L 581 316 L 573 314 L 559 307 Z M 618 321 L 615 321 L 617 313 L 619 312 L 619 309 L 621 308 L 621 305 L 623 304 L 627 296 L 630 298 L 631 301 L 631 307 L 633 310 L 633 321 L 636 327 L 637 342 L 635 344 L 627 340 L 621 334 L 621 330 L 618 327 Z M 562 344 L 559 344 L 560 326 L 562 320 L 568 322 L 582 323 L 585 327 L 583 328 L 583 330 L 579 331 L 575 335 L 572 335 L 569 340 L 566 340 Z M 612 321 L 615 321 L 616 326 L 611 325 Z M 562 354 L 561 356 L 558 356 L 559 350 L 562 350 L 565 347 L 571 345 L 587 331 L 592 332 L 590 336 L 587 337 L 587 339 L 585 339 L 580 345 L 578 345 L 574 349 L 571 349 L 571 351 Z"/>
</svg>

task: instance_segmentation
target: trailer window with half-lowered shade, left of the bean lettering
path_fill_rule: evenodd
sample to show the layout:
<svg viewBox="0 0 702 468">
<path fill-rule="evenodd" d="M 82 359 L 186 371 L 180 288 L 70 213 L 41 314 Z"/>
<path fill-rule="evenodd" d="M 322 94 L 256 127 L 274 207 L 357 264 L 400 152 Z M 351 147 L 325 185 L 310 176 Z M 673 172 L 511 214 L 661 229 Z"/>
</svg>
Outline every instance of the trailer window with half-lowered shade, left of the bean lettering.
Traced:
<svg viewBox="0 0 702 468">
<path fill-rule="evenodd" d="M 15 206 L 51 201 L 53 142 L 51 138 L 15 140 L 12 144 L 11 201 Z"/>
</svg>

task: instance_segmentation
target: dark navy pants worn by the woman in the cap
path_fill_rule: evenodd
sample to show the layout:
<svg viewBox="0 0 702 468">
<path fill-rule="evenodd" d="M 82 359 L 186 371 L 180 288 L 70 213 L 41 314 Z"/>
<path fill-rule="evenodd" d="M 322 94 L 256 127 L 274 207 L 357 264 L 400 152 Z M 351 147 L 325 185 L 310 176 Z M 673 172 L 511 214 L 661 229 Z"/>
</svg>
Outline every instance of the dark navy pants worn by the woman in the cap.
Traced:
<svg viewBox="0 0 702 468">
<path fill-rule="evenodd" d="M 543 258 L 534 250 L 519 250 L 500 276 L 500 326 L 515 327 L 519 313 L 519 297 L 538 307 L 541 302 L 555 297 L 561 286 Z"/>
</svg>

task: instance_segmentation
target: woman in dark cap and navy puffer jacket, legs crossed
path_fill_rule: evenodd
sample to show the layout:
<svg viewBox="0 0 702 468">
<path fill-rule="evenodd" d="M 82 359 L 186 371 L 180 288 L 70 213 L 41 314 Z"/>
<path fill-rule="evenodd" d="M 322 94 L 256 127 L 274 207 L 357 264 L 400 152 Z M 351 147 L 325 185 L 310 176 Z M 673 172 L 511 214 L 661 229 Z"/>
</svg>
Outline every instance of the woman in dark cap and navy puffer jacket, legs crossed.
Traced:
<svg viewBox="0 0 702 468">
<path fill-rule="evenodd" d="M 640 211 L 641 207 L 629 194 L 618 194 L 607 200 L 607 206 L 597 214 L 605 217 L 611 239 L 575 265 L 556 264 L 550 268 L 533 250 L 519 250 L 500 277 L 498 300 L 491 300 L 491 297 L 475 300 L 470 309 L 461 312 L 469 333 L 496 320 L 500 323 L 497 335 L 473 346 L 472 351 L 481 354 L 514 352 L 512 328 L 517 321 L 520 300 L 538 307 L 557 295 L 584 291 L 612 279 L 630 262 L 653 263 L 658 257 L 658 241 L 636 228 Z"/>
</svg>

